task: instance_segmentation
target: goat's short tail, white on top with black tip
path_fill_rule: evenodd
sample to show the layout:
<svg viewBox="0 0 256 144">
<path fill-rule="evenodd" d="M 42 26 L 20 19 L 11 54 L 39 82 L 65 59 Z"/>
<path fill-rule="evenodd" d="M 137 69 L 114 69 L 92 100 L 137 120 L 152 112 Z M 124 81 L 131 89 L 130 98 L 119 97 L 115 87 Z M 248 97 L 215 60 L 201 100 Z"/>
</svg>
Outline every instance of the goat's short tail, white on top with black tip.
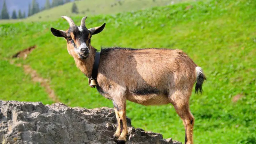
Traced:
<svg viewBox="0 0 256 144">
<path fill-rule="evenodd" d="M 206 77 L 204 76 L 203 70 L 201 67 L 196 67 L 196 87 L 195 87 L 195 92 L 200 93 L 203 92 L 202 85 L 204 81 L 206 80 Z"/>
</svg>

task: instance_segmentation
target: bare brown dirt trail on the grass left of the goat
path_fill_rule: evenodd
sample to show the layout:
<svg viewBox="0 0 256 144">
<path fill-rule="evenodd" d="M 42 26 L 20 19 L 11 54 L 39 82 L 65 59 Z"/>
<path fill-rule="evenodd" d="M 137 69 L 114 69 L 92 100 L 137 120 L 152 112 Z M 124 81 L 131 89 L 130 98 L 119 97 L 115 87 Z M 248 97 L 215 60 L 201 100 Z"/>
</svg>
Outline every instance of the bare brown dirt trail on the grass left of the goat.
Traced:
<svg viewBox="0 0 256 144">
<path fill-rule="evenodd" d="M 25 60 L 28 57 L 28 54 L 32 52 L 36 46 L 31 46 L 27 49 L 24 49 L 15 55 L 12 56 L 12 58 L 23 58 Z M 14 64 L 15 60 L 11 60 L 10 63 Z M 43 77 L 40 77 L 37 73 L 36 70 L 32 69 L 29 65 L 21 65 L 21 64 L 16 64 L 17 67 L 23 67 L 24 71 L 26 74 L 30 75 L 32 80 L 34 82 L 39 82 L 42 87 L 44 87 L 45 91 L 48 93 L 49 98 L 51 98 L 54 102 L 60 102 L 58 97 L 54 94 L 54 91 L 51 89 L 50 86 L 50 80 L 44 79 Z"/>
</svg>

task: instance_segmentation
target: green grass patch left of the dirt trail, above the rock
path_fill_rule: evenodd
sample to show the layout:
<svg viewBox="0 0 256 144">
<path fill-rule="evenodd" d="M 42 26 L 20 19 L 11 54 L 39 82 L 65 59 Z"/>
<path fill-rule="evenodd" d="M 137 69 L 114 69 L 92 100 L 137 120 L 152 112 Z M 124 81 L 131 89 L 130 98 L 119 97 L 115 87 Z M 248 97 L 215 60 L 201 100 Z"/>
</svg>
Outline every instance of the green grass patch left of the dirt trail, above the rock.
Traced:
<svg viewBox="0 0 256 144">
<path fill-rule="evenodd" d="M 21 67 L 12 65 L 7 60 L 1 60 L 0 66 L 0 99 L 52 103 L 40 84 L 31 82 L 31 77 L 25 75 Z"/>
</svg>

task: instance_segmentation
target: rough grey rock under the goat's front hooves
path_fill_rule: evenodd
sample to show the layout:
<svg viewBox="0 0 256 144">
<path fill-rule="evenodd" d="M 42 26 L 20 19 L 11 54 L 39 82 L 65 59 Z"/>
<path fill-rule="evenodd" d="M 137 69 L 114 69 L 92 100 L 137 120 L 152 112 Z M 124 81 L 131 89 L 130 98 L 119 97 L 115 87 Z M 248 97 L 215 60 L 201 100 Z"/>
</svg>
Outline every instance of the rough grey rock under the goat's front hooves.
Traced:
<svg viewBox="0 0 256 144">
<path fill-rule="evenodd" d="M 131 126 L 127 119 L 126 144 L 181 144 L 159 133 Z M 70 108 L 62 103 L 0 100 L 1 143 L 115 144 L 115 112 L 112 108 Z"/>
</svg>

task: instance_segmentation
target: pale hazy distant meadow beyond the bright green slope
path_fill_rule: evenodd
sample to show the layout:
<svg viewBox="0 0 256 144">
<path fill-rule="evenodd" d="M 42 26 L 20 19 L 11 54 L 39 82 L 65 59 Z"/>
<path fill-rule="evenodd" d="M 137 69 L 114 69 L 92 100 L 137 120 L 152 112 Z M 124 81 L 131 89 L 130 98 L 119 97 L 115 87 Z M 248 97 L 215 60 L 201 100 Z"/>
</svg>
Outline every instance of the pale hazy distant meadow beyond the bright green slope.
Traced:
<svg viewBox="0 0 256 144">
<path fill-rule="evenodd" d="M 173 0 L 173 2 L 183 2 L 188 0 Z M 81 0 L 76 1 L 79 13 L 72 13 L 72 2 L 54 7 L 49 10 L 36 13 L 24 20 L 1 20 L 2 23 L 8 22 L 31 22 L 31 21 L 52 21 L 59 19 L 62 15 L 67 16 L 92 16 L 99 14 L 116 14 L 118 12 L 137 11 L 154 6 L 164 6 L 172 4 L 171 0 Z"/>
</svg>

